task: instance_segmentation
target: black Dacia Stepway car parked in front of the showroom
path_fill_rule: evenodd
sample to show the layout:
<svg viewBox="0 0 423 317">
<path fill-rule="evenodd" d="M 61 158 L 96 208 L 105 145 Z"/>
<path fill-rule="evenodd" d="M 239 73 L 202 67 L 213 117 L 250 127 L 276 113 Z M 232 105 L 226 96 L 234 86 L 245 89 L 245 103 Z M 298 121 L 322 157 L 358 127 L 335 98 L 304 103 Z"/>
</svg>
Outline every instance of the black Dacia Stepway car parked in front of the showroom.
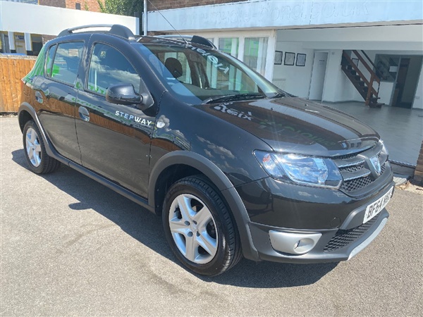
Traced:
<svg viewBox="0 0 423 317">
<path fill-rule="evenodd" d="M 241 256 L 348 260 L 388 218 L 393 173 L 372 128 L 202 37 L 64 30 L 23 78 L 19 124 L 30 170 L 66 164 L 161 215 L 202 275 Z"/>
</svg>

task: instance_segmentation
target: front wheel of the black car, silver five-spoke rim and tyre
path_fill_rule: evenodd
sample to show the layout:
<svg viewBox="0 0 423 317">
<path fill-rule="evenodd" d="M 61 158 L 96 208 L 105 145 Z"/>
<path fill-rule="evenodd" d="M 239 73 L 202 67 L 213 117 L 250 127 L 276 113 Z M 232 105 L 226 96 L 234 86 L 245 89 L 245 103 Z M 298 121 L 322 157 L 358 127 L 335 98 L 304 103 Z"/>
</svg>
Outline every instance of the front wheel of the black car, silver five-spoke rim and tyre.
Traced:
<svg viewBox="0 0 423 317">
<path fill-rule="evenodd" d="M 217 189 L 201 175 L 171 186 L 162 218 L 173 253 L 190 271 L 214 276 L 240 261 L 240 239 L 231 214 Z"/>
</svg>

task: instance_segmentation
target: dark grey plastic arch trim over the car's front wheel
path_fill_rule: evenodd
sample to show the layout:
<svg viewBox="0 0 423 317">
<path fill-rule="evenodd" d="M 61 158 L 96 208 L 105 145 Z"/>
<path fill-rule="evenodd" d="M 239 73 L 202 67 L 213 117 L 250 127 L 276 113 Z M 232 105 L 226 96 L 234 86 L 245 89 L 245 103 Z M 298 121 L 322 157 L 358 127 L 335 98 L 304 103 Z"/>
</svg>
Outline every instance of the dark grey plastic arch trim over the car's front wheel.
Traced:
<svg viewBox="0 0 423 317">
<path fill-rule="evenodd" d="M 240 241 L 245 258 L 259 261 L 258 251 L 252 242 L 252 235 L 249 227 L 250 217 L 248 216 L 247 209 L 245 209 L 242 199 L 222 170 L 204 156 L 191 151 L 171 151 L 162 156 L 159 161 L 157 161 L 150 174 L 148 195 L 149 206 L 153 209 L 155 208 L 156 186 L 159 182 L 161 173 L 166 170 L 166 168 L 176 165 L 190 166 L 200 170 L 203 175 L 213 182 L 217 189 L 219 189 L 219 192 L 221 192 L 229 209 L 231 209 L 231 213 L 240 234 Z"/>
</svg>

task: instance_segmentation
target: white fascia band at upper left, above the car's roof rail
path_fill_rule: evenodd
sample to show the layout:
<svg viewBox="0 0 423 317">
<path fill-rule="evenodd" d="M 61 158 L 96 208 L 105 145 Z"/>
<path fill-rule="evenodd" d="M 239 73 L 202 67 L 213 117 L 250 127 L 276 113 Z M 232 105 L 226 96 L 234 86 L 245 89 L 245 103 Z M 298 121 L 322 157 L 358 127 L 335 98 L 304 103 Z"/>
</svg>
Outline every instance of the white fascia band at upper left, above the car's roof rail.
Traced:
<svg viewBox="0 0 423 317">
<path fill-rule="evenodd" d="M 69 27 L 93 24 L 121 24 L 140 33 L 139 19 L 130 16 L 0 1 L 1 31 L 59 35 Z"/>
</svg>

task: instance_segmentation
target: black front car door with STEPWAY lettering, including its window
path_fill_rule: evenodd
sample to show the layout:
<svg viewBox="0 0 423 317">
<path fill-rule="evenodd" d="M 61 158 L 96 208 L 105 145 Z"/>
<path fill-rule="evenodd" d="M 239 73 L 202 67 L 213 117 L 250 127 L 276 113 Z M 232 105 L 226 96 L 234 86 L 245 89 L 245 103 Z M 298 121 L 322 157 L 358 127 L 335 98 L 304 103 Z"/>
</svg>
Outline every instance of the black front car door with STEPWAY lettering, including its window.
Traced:
<svg viewBox="0 0 423 317">
<path fill-rule="evenodd" d="M 85 89 L 78 92 L 76 129 L 82 166 L 147 197 L 149 148 L 155 117 L 136 106 L 111 104 L 106 89 L 130 83 L 139 91 L 140 75 L 124 54 L 108 44 L 91 51 Z"/>
</svg>

